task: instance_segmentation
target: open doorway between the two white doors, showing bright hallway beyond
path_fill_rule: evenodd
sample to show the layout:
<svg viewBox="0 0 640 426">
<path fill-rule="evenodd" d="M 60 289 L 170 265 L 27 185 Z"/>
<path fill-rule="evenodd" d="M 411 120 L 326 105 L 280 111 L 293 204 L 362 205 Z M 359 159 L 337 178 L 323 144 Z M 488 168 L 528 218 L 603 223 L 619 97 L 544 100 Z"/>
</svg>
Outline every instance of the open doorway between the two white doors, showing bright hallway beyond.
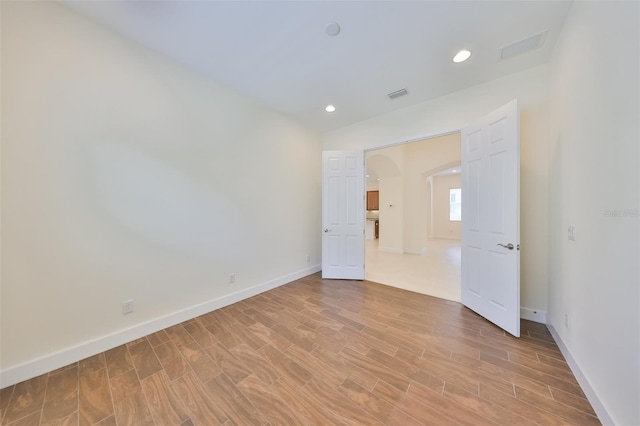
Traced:
<svg viewBox="0 0 640 426">
<path fill-rule="evenodd" d="M 461 188 L 460 133 L 367 151 L 366 190 L 378 191 L 379 238 L 365 240 L 365 278 L 460 301 L 460 222 L 449 190 Z"/>
</svg>

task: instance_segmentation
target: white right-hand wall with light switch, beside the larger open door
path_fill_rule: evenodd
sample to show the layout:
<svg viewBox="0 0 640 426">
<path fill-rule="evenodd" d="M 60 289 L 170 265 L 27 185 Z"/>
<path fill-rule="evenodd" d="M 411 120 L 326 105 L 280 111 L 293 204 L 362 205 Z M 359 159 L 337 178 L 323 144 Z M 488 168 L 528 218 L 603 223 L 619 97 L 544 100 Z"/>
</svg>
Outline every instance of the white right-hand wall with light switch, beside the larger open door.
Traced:
<svg viewBox="0 0 640 426">
<path fill-rule="evenodd" d="M 551 61 L 549 322 L 619 425 L 640 424 L 639 12 L 575 2 Z"/>
</svg>

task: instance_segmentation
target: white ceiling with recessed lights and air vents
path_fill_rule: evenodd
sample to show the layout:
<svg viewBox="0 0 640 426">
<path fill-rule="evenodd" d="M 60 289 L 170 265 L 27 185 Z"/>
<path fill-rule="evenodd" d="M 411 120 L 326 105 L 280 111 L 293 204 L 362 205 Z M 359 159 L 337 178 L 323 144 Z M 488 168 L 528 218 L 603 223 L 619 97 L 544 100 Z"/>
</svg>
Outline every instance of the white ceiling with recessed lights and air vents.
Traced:
<svg viewBox="0 0 640 426">
<path fill-rule="evenodd" d="M 65 1 L 77 12 L 320 131 L 548 61 L 567 1 Z M 329 36 L 328 24 L 340 33 Z M 544 44 L 501 49 L 547 31 Z M 471 58 L 454 64 L 468 49 Z M 387 94 L 406 88 L 408 94 Z M 333 104 L 336 111 L 324 107 Z"/>
</svg>

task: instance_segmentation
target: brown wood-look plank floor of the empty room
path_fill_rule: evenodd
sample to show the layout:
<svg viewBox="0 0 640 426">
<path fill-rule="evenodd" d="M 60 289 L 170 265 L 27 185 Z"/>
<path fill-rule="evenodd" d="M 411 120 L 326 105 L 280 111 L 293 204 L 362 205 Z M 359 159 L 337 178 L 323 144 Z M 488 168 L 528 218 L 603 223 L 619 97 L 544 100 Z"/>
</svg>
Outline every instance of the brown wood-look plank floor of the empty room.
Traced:
<svg viewBox="0 0 640 426">
<path fill-rule="evenodd" d="M 311 275 L 0 391 L 2 425 L 600 424 L 547 328 Z"/>
</svg>

